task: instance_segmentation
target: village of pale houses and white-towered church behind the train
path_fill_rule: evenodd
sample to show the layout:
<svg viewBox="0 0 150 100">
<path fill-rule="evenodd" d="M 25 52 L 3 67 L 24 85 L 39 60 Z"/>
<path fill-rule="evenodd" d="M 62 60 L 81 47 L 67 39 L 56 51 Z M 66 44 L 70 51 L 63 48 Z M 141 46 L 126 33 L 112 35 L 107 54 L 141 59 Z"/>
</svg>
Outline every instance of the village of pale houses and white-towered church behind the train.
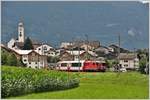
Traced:
<svg viewBox="0 0 150 100">
<path fill-rule="evenodd" d="M 10 39 L 7 45 L 1 44 L 1 48 L 11 51 L 28 68 L 55 69 L 60 61 L 92 60 L 101 61 L 107 68 L 111 67 L 111 70 L 114 70 L 113 67 L 116 65 L 108 66 L 107 63 L 109 60 L 113 61 L 113 63 L 117 62 L 118 56 L 121 71 L 139 68 L 137 53 L 119 48 L 114 44 L 106 47 L 99 41 L 89 41 L 88 37 L 87 40 L 82 41 L 62 42 L 59 48 L 54 48 L 47 43 L 33 41 L 28 37 L 32 42 L 32 49 L 24 49 L 25 41 L 27 40 L 24 30 L 24 23 L 19 22 L 18 37 Z"/>
</svg>

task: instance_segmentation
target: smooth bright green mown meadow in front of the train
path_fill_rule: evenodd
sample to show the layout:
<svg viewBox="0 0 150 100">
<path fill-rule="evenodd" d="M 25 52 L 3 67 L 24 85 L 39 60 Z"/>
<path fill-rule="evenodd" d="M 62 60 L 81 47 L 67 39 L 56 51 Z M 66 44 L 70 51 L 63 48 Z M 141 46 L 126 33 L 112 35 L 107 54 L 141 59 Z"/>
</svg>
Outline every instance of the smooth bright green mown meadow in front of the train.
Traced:
<svg viewBox="0 0 150 100">
<path fill-rule="evenodd" d="M 71 74 L 71 73 L 70 73 Z M 136 72 L 80 73 L 80 86 L 70 90 L 33 93 L 15 99 L 146 99 L 148 76 Z"/>
</svg>

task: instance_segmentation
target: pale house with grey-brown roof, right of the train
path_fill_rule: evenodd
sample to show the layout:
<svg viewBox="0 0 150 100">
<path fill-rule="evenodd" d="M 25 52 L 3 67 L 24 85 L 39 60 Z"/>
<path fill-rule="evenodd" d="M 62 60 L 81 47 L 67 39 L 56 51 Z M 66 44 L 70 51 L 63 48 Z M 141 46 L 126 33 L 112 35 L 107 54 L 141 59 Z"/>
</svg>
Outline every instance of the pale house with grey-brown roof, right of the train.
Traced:
<svg viewBox="0 0 150 100">
<path fill-rule="evenodd" d="M 122 68 L 137 69 L 139 67 L 139 59 L 134 53 L 120 53 L 119 64 Z"/>
</svg>

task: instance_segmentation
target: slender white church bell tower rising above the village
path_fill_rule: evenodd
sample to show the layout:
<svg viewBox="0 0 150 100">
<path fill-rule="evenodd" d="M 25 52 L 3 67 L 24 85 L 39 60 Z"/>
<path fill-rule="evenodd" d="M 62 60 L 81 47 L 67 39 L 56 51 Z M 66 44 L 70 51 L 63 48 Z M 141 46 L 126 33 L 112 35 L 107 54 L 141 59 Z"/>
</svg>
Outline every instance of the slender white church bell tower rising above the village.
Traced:
<svg viewBox="0 0 150 100">
<path fill-rule="evenodd" d="M 23 22 L 19 22 L 18 24 L 18 42 L 24 43 L 25 37 L 24 37 L 24 26 Z"/>
</svg>

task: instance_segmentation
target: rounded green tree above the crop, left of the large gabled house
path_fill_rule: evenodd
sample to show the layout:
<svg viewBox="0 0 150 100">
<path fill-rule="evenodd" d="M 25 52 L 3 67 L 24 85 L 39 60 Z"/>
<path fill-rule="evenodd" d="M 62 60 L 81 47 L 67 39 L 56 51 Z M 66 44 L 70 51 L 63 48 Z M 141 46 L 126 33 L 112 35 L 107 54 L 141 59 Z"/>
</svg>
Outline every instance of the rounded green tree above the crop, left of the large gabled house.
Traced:
<svg viewBox="0 0 150 100">
<path fill-rule="evenodd" d="M 17 66 L 17 58 L 14 54 L 9 54 L 7 57 L 7 65 Z"/>
</svg>

